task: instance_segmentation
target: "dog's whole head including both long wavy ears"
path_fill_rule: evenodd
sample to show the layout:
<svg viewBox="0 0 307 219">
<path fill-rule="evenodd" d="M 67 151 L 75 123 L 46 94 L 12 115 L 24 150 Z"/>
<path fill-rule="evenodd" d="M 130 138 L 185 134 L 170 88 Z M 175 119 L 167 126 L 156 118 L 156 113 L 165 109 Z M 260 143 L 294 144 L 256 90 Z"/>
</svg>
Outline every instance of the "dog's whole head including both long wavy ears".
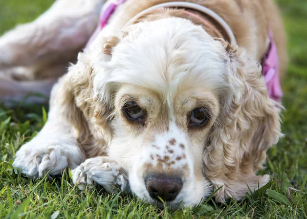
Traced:
<svg viewBox="0 0 307 219">
<path fill-rule="evenodd" d="M 146 202 L 197 205 L 221 186 L 223 202 L 268 181 L 255 172 L 280 123 L 261 68 L 189 20 L 132 25 L 104 46 L 98 39 L 69 74 L 94 139 Z"/>
</svg>

